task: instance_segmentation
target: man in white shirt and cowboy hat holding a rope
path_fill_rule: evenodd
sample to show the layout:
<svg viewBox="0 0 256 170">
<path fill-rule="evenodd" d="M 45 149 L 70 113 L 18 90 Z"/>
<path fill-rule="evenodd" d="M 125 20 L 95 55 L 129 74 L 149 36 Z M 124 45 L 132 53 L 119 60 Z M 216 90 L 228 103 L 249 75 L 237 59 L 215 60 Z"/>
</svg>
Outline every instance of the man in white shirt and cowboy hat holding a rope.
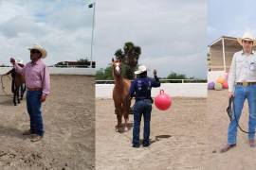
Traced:
<svg viewBox="0 0 256 170">
<path fill-rule="evenodd" d="M 248 143 L 254 147 L 255 141 L 253 132 L 256 127 L 256 53 L 252 51 L 252 46 L 256 41 L 250 32 L 245 32 L 242 38 L 237 41 L 243 46 L 243 50 L 233 55 L 229 69 L 229 98 L 234 97 L 233 114 L 239 121 L 245 100 L 248 102 Z M 228 144 L 221 149 L 227 152 L 236 145 L 237 123 L 235 117 L 229 123 Z"/>
</svg>

